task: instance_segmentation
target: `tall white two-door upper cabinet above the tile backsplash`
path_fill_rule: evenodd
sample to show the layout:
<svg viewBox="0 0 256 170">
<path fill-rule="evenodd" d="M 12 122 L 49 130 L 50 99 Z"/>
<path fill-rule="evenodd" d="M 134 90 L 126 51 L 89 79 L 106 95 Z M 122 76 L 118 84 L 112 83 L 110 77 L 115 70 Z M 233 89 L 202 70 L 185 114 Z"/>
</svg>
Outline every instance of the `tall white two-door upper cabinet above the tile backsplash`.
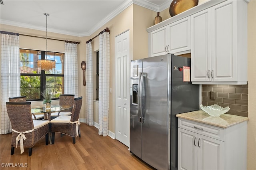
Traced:
<svg viewBox="0 0 256 170">
<path fill-rule="evenodd" d="M 193 84 L 247 84 L 247 2 L 228 0 L 191 16 Z"/>
</svg>

